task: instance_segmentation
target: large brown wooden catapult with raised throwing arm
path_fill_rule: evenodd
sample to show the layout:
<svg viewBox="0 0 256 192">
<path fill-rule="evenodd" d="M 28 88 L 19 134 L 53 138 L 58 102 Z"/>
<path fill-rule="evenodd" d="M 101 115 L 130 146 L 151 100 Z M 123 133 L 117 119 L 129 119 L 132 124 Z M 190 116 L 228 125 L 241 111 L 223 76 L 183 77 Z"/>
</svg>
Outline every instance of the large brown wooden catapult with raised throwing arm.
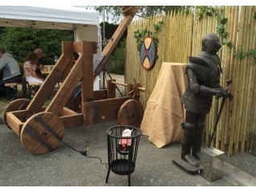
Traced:
<svg viewBox="0 0 256 192">
<path fill-rule="evenodd" d="M 108 80 L 107 89 L 93 91 L 93 80 L 101 73 L 109 55 L 116 47 L 118 40 L 130 24 L 137 6 L 124 6 L 125 18 L 115 31 L 112 40 L 101 52 L 100 59 L 93 63 L 93 54 L 97 53 L 97 43 L 93 42 L 63 42 L 62 55 L 53 67 L 51 73 L 39 88 L 32 100 L 14 100 L 5 109 L 3 121 L 6 126 L 20 137 L 24 147 L 31 153 L 47 153 L 56 149 L 64 137 L 64 129 L 79 126 L 93 125 L 105 121 L 114 121 L 123 104 L 128 107 L 131 103 L 137 104 L 139 110 L 131 112 L 132 115 L 142 120 L 142 105 L 138 102 L 138 92 L 145 91 L 141 88 L 140 81 L 134 84 L 121 84 L 128 87 L 130 94 L 116 97 L 115 88 L 117 82 Z M 80 57 L 73 63 L 73 53 L 79 52 Z M 46 108 L 42 108 L 53 88 L 63 77 L 56 95 Z M 81 84 L 80 111 L 76 112 L 68 108 L 72 100 L 72 92 L 77 84 Z M 135 99 L 129 102 L 131 98 Z M 137 99 L 137 100 L 136 100 Z M 125 109 L 122 108 L 124 111 Z M 126 118 L 125 118 L 126 119 Z"/>
</svg>

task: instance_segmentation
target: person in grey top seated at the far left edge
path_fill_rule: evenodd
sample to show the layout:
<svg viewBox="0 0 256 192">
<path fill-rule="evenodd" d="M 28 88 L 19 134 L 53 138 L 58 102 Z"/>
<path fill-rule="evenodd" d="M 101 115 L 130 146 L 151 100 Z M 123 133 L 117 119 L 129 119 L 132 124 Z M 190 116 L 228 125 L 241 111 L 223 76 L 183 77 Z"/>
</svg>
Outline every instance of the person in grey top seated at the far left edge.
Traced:
<svg viewBox="0 0 256 192">
<path fill-rule="evenodd" d="M 4 48 L 0 47 L 0 93 L 6 95 L 6 83 L 19 83 L 21 82 L 21 73 L 19 69 L 18 62 L 14 59 L 10 53 L 7 53 Z M 9 100 L 12 100 L 16 92 L 14 90 L 10 91 Z"/>
</svg>

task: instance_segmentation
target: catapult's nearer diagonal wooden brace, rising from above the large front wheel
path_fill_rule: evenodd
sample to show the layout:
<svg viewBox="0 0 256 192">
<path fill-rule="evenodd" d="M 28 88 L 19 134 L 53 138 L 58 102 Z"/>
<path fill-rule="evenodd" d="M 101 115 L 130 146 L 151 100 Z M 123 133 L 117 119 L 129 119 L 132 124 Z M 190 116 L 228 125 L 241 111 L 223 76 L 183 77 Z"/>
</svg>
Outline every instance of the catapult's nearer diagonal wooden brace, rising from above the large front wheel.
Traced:
<svg viewBox="0 0 256 192">
<path fill-rule="evenodd" d="M 69 97 L 72 95 L 72 92 L 76 88 L 76 84 L 82 78 L 81 71 L 82 59 L 78 59 L 74 66 L 72 67 L 72 71 L 68 74 L 67 78 L 64 80 L 64 83 L 53 97 L 50 104 L 48 104 L 45 109 L 46 112 L 52 112 L 56 115 L 59 115 L 64 105 L 67 103 Z"/>
</svg>

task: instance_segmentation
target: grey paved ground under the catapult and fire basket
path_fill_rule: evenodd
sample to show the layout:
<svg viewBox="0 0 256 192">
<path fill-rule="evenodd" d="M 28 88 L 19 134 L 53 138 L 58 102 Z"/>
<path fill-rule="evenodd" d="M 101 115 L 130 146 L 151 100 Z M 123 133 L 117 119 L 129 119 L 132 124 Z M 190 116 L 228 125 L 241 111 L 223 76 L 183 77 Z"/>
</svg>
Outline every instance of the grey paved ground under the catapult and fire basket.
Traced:
<svg viewBox="0 0 256 192">
<path fill-rule="evenodd" d="M 118 76 L 112 78 L 123 80 Z M 57 149 L 35 155 L 0 122 L 0 186 L 127 186 L 126 176 L 112 172 L 109 182 L 105 183 L 105 131 L 117 124 L 117 121 L 110 121 L 65 129 L 64 140 Z M 87 147 L 89 157 L 76 151 Z M 172 162 L 174 157 L 180 157 L 180 149 L 180 143 L 158 149 L 147 137 L 140 137 L 131 186 L 256 186 L 256 156 L 250 153 L 222 156 L 225 175 L 209 182 L 200 174 L 188 174 Z"/>
</svg>

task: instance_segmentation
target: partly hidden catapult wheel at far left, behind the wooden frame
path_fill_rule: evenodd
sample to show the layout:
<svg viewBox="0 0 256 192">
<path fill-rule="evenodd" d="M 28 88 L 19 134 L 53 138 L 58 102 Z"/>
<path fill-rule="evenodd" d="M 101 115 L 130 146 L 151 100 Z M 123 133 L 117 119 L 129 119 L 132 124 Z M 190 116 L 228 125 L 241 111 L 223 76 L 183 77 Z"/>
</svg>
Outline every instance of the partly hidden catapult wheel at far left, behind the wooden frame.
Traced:
<svg viewBox="0 0 256 192">
<path fill-rule="evenodd" d="M 10 104 L 8 104 L 5 108 L 5 110 L 3 111 L 3 122 L 5 123 L 5 125 L 10 129 L 10 126 L 7 125 L 7 121 L 6 121 L 6 113 L 7 112 L 15 112 L 15 111 L 20 111 L 20 110 L 25 110 L 27 108 L 27 105 L 30 103 L 30 100 L 25 100 L 25 99 L 19 99 L 19 100 L 14 100 L 12 102 L 10 102 Z"/>
</svg>

